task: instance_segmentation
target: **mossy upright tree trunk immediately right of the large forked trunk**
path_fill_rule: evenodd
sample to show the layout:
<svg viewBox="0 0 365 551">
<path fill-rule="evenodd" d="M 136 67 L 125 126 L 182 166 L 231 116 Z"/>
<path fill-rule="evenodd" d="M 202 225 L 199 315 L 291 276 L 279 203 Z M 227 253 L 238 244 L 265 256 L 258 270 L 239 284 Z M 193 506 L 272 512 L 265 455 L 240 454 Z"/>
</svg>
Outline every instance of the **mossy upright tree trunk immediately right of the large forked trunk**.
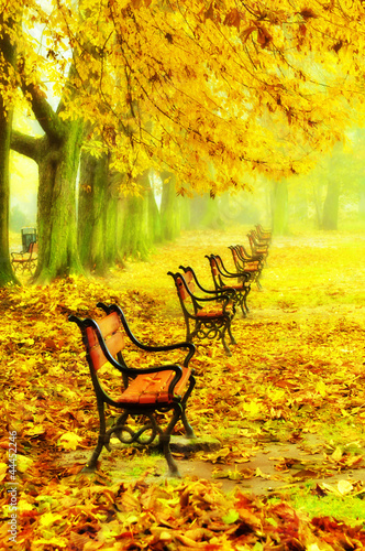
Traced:
<svg viewBox="0 0 365 551">
<path fill-rule="evenodd" d="M 96 158 L 82 152 L 78 203 L 79 253 L 82 266 L 98 274 L 104 273 L 107 269 L 108 176 L 107 154 Z"/>
</svg>

